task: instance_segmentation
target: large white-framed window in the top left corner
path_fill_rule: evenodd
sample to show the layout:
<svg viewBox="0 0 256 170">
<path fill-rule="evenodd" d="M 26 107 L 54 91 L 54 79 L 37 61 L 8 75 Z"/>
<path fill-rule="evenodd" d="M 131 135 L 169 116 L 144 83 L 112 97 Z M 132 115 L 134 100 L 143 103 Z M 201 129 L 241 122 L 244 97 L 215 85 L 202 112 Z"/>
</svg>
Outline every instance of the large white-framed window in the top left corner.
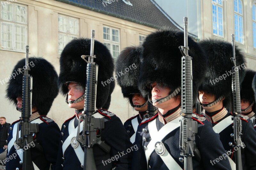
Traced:
<svg viewBox="0 0 256 170">
<path fill-rule="evenodd" d="M 28 7 L 1 1 L 1 49 L 25 52 L 28 45 Z"/>
</svg>

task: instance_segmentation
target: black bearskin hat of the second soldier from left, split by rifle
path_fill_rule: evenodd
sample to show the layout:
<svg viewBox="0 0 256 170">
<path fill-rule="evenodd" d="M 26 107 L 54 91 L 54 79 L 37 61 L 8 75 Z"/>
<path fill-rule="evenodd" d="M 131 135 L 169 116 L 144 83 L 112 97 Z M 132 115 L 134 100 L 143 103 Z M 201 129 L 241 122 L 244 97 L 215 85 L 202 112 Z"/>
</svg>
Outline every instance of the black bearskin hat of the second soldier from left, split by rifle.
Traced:
<svg viewBox="0 0 256 170">
<path fill-rule="evenodd" d="M 88 38 L 72 40 L 63 49 L 60 56 L 59 75 L 59 87 L 63 95 L 68 93 L 66 82 L 77 82 L 86 85 L 87 63 L 81 58 L 81 55 L 90 55 L 90 52 L 91 39 Z M 99 66 L 96 107 L 101 108 L 111 95 L 109 79 L 113 77 L 114 61 L 108 48 L 96 40 L 94 42 L 94 55 L 96 55 L 96 58 L 93 62 Z"/>
</svg>

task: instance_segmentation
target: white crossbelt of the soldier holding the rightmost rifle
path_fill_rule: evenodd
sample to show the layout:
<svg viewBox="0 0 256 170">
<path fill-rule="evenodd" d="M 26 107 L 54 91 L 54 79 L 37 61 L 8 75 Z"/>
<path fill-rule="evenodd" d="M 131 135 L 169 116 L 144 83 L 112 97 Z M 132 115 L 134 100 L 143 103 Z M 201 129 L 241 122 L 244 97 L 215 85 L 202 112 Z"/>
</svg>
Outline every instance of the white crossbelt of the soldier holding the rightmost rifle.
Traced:
<svg viewBox="0 0 256 170">
<path fill-rule="evenodd" d="M 217 123 L 212 129 L 214 130 L 215 133 L 220 133 L 222 132 L 222 130 L 226 129 L 231 123 L 233 123 L 232 121 L 232 116 L 228 116 L 225 119 L 223 119 L 222 121 L 220 121 L 219 123 Z M 228 156 L 228 161 L 230 163 L 231 169 L 232 170 L 236 170 L 236 163 Z"/>
</svg>

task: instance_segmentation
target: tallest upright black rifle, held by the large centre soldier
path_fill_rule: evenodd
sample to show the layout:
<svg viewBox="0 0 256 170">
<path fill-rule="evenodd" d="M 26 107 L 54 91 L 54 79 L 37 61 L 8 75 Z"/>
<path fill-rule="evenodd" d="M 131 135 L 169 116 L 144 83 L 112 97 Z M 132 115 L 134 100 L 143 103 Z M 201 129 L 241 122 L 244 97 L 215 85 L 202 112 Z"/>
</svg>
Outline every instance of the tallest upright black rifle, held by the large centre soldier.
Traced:
<svg viewBox="0 0 256 170">
<path fill-rule="evenodd" d="M 180 150 L 184 156 L 184 170 L 192 170 L 192 156 L 196 151 L 197 123 L 192 119 L 192 58 L 188 55 L 188 18 L 184 17 L 184 46 L 180 46 L 181 58 L 181 115 Z"/>
</svg>

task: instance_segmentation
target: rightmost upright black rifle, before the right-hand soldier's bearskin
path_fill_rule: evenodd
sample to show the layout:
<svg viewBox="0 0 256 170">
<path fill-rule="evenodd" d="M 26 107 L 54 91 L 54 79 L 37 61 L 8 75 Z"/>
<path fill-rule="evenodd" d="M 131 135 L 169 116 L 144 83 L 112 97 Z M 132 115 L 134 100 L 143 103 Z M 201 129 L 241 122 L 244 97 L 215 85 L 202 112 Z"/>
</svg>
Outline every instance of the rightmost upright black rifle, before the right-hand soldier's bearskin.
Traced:
<svg viewBox="0 0 256 170">
<path fill-rule="evenodd" d="M 230 58 L 232 66 L 232 119 L 234 121 L 234 141 L 235 144 L 233 147 L 238 147 L 238 150 L 235 151 L 236 153 L 236 170 L 242 170 L 242 157 L 241 157 L 241 146 L 244 148 L 244 145 L 242 144 L 242 121 L 240 119 L 241 116 L 241 100 L 240 100 L 240 85 L 239 85 L 239 73 L 238 73 L 238 67 L 236 66 L 236 53 L 235 53 L 235 35 L 231 34 L 231 44 L 232 44 L 232 51 L 233 56 Z M 232 134 L 231 134 L 232 135 Z M 232 135 L 233 136 L 233 135 Z M 232 145 L 232 143 L 230 143 Z"/>
</svg>

